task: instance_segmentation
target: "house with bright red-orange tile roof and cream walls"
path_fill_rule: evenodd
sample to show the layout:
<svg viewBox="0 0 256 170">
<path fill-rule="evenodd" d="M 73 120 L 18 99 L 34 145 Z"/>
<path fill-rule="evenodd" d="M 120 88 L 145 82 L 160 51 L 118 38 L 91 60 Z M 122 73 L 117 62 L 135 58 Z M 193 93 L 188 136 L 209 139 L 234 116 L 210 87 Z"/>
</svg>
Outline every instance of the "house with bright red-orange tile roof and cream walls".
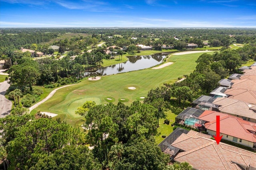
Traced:
<svg viewBox="0 0 256 170">
<path fill-rule="evenodd" d="M 205 121 L 204 127 L 210 135 L 216 135 L 216 116 L 220 116 L 220 135 L 229 140 L 256 149 L 256 123 L 245 121 L 217 111 L 204 111 L 198 117 Z"/>
</svg>

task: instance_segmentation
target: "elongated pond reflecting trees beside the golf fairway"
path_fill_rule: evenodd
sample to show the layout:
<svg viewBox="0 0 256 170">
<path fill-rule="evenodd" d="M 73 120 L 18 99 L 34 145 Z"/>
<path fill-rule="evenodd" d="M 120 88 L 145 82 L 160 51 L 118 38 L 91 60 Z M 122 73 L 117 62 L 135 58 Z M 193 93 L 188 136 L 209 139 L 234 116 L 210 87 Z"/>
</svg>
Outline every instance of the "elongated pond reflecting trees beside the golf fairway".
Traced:
<svg viewBox="0 0 256 170">
<path fill-rule="evenodd" d="M 111 75 L 147 69 L 162 63 L 164 61 L 164 58 L 166 58 L 166 55 L 162 53 L 153 55 L 132 56 L 128 57 L 128 61 L 124 63 L 119 63 L 109 67 L 100 68 L 94 71 L 94 73 L 96 73 L 96 75 Z"/>
</svg>

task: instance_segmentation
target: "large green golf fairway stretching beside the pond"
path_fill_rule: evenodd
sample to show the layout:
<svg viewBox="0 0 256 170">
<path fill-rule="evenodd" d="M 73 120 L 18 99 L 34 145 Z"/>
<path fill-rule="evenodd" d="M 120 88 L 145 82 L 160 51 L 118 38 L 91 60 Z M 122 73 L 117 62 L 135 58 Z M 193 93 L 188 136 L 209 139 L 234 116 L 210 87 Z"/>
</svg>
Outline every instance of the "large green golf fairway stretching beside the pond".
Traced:
<svg viewBox="0 0 256 170">
<path fill-rule="evenodd" d="M 213 53 L 213 52 L 209 52 Z M 172 55 L 169 61 L 174 64 L 162 69 L 144 69 L 116 75 L 102 76 L 98 81 L 84 80 L 80 83 L 58 90 L 52 98 L 32 111 L 47 111 L 58 114 L 62 120 L 73 127 L 82 125 L 82 117 L 75 115 L 76 107 L 88 100 L 97 104 L 108 103 L 105 98 L 128 99 L 124 102 L 130 105 L 139 97 L 145 97 L 150 89 L 162 86 L 163 83 L 173 83 L 178 77 L 190 74 L 196 67 L 196 59 L 202 53 L 186 55 Z M 136 90 L 128 90 L 127 87 L 137 87 Z"/>
</svg>

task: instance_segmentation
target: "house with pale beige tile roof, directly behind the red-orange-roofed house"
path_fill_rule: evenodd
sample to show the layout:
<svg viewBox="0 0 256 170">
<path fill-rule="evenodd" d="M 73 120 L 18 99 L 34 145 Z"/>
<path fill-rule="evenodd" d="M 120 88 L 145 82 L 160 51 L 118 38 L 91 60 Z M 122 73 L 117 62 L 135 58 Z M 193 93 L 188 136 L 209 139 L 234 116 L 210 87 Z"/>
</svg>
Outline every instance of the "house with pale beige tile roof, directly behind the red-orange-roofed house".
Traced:
<svg viewBox="0 0 256 170">
<path fill-rule="evenodd" d="M 219 97 L 213 103 L 219 105 L 218 111 L 221 113 L 227 113 L 256 123 L 256 105 L 254 104 L 227 97 Z"/>
</svg>

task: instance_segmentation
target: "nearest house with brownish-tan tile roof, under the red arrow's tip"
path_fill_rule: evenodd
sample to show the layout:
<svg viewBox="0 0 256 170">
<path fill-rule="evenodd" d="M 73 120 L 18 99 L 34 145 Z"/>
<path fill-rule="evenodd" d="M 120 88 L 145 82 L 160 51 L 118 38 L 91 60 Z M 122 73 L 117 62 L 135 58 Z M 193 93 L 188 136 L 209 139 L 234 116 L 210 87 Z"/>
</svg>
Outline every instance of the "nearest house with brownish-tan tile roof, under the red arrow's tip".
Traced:
<svg viewBox="0 0 256 170">
<path fill-rule="evenodd" d="M 210 137 L 193 130 L 180 134 L 169 143 L 179 149 L 173 160 L 186 161 L 195 170 L 256 170 L 256 153 L 222 142 L 217 144 Z"/>
</svg>

